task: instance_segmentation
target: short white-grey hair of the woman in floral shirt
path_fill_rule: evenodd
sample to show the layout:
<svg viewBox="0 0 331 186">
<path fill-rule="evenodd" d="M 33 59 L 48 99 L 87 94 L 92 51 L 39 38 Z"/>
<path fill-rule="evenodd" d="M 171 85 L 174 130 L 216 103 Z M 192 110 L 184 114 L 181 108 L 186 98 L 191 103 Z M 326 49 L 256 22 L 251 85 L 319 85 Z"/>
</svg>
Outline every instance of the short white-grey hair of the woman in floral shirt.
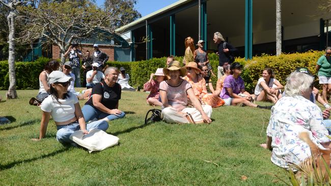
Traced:
<svg viewBox="0 0 331 186">
<path fill-rule="evenodd" d="M 302 92 L 311 88 L 311 84 L 314 81 L 314 77 L 300 72 L 292 72 L 287 77 L 287 83 L 285 85 L 285 96 L 294 97 L 302 96 Z"/>
</svg>

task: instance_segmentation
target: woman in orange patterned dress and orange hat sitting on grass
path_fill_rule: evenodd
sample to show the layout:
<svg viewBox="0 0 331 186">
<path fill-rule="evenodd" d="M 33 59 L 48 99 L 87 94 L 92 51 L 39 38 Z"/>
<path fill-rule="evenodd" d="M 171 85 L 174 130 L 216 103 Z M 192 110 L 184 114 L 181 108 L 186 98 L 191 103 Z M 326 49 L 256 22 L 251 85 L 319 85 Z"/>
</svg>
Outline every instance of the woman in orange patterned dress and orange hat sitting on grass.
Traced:
<svg viewBox="0 0 331 186">
<path fill-rule="evenodd" d="M 207 104 L 211 107 L 219 107 L 224 105 L 224 101 L 221 98 L 213 94 L 208 94 L 206 81 L 200 75 L 201 70 L 198 68 L 197 63 L 189 62 L 185 68 L 187 70 L 187 74 L 183 77 L 183 79 L 189 82 L 195 96 L 203 105 Z"/>
</svg>

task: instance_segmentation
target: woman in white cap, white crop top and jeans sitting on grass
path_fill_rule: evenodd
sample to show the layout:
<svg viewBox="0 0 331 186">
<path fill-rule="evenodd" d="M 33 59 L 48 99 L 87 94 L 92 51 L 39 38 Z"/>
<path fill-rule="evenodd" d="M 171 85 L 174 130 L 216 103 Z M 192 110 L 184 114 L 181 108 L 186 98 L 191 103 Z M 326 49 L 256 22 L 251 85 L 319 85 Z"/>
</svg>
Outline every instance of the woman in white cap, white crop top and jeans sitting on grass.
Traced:
<svg viewBox="0 0 331 186">
<path fill-rule="evenodd" d="M 66 76 L 63 72 L 53 71 L 49 74 L 50 96 L 41 104 L 42 117 L 40 123 L 39 141 L 45 137 L 50 116 L 57 125 L 57 140 L 62 144 L 72 144 L 76 146 L 70 135 L 78 130 L 88 134 L 89 130 L 97 128 L 106 131 L 108 123 L 104 120 L 94 121 L 86 125 L 84 116 L 81 113 L 77 97 L 70 91 L 68 86 L 72 77 Z"/>
</svg>

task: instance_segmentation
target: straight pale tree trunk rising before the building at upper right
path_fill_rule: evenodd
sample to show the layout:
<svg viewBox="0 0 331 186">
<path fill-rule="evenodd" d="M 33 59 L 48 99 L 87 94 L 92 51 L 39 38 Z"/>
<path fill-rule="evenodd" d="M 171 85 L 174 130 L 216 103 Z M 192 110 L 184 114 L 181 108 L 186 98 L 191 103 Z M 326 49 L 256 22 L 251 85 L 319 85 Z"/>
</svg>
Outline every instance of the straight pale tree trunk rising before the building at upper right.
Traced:
<svg viewBox="0 0 331 186">
<path fill-rule="evenodd" d="M 276 55 L 282 54 L 282 1 L 276 0 Z"/>
</svg>

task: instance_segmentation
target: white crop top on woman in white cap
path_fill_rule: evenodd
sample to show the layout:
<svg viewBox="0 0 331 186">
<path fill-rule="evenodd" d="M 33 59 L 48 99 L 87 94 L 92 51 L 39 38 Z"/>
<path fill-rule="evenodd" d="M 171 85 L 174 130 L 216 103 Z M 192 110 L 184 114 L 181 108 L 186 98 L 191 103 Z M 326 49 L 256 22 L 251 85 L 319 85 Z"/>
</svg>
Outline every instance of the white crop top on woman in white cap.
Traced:
<svg viewBox="0 0 331 186">
<path fill-rule="evenodd" d="M 59 103 L 52 95 L 48 96 L 41 103 L 41 110 L 50 112 L 54 121 L 63 122 L 75 117 L 75 106 L 78 103 L 78 98 L 72 93 L 68 92 L 69 98 L 64 100 L 58 99 Z"/>
</svg>

